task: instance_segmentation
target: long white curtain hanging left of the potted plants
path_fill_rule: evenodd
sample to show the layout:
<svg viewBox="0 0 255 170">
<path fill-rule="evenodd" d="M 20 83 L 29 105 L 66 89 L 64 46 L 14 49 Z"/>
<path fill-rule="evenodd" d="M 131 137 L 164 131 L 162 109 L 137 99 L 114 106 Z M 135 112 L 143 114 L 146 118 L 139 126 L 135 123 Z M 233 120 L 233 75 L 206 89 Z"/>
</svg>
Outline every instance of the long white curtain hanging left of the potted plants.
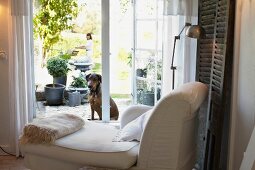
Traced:
<svg viewBox="0 0 255 170">
<path fill-rule="evenodd" d="M 11 0 L 11 29 L 9 43 L 11 141 L 16 156 L 18 139 L 34 113 L 32 0 Z"/>
</svg>

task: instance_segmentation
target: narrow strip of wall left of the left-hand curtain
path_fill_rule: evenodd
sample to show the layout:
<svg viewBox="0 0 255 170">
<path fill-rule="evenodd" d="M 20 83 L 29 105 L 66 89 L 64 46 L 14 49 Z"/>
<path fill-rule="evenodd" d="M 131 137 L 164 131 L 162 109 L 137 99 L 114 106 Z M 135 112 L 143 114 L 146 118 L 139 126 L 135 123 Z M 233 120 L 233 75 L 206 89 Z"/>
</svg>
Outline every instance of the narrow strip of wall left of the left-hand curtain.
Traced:
<svg viewBox="0 0 255 170">
<path fill-rule="evenodd" d="M 8 0 L 0 0 L 0 50 L 8 54 Z M 9 112 L 9 64 L 0 58 L 0 146 L 6 148 L 10 143 Z M 6 148 L 8 150 L 8 148 Z M 1 152 L 0 152 L 1 154 Z"/>
</svg>

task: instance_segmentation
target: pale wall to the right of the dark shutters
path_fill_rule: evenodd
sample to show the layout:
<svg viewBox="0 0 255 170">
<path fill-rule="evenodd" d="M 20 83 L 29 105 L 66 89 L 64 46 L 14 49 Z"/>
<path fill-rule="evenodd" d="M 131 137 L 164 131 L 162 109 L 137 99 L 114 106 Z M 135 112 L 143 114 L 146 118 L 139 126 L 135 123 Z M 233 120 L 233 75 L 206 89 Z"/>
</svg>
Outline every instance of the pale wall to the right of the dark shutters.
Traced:
<svg viewBox="0 0 255 170">
<path fill-rule="evenodd" d="M 229 170 L 238 170 L 255 124 L 255 1 L 236 1 Z"/>
</svg>

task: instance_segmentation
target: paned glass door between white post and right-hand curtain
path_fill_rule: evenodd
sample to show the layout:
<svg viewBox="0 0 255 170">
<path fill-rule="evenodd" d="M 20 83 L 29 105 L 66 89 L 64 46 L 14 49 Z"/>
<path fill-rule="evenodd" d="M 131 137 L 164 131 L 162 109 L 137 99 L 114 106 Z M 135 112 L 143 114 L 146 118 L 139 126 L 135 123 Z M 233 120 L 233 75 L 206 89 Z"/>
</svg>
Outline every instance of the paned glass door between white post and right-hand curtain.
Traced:
<svg viewBox="0 0 255 170">
<path fill-rule="evenodd" d="M 161 94 L 163 0 L 134 0 L 133 99 L 153 106 Z"/>
</svg>

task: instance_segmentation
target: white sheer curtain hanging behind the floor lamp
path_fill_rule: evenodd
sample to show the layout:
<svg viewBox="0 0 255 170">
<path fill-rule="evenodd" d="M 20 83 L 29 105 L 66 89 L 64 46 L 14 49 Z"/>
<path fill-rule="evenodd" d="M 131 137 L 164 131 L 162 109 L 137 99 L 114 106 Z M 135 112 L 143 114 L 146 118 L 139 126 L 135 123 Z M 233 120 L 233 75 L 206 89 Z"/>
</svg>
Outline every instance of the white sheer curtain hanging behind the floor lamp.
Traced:
<svg viewBox="0 0 255 170">
<path fill-rule="evenodd" d="M 174 36 L 178 35 L 186 22 L 197 24 L 198 0 L 164 0 L 164 42 L 163 42 L 163 78 L 162 95 L 172 90 L 172 70 L 170 63 L 173 53 Z M 175 88 L 195 81 L 196 48 L 195 39 L 185 37 L 185 31 L 176 42 L 174 65 Z"/>
</svg>

